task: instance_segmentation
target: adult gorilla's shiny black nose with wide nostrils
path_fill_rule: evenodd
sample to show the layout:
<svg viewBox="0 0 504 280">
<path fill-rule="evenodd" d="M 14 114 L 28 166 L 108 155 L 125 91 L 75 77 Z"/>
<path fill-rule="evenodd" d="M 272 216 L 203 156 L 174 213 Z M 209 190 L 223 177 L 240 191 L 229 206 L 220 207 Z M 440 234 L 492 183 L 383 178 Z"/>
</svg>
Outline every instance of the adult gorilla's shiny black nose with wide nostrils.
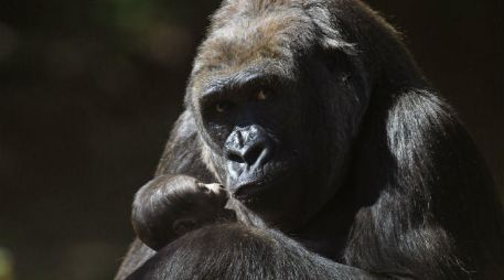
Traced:
<svg viewBox="0 0 504 280">
<path fill-rule="evenodd" d="M 265 164 L 272 152 L 266 131 L 258 126 L 235 129 L 226 140 L 227 160 L 256 169 Z"/>
</svg>

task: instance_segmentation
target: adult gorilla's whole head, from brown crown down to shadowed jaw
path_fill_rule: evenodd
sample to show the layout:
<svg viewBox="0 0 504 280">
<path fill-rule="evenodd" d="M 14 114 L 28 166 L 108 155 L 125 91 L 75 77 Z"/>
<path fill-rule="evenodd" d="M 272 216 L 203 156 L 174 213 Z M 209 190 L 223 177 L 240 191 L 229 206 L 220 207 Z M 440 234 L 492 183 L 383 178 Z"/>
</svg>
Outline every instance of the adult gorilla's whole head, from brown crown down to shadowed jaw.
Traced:
<svg viewBox="0 0 504 280">
<path fill-rule="evenodd" d="M 186 96 L 208 168 L 282 228 L 304 223 L 334 195 L 360 118 L 347 67 L 314 51 L 313 24 L 293 11 L 217 14 Z"/>
</svg>

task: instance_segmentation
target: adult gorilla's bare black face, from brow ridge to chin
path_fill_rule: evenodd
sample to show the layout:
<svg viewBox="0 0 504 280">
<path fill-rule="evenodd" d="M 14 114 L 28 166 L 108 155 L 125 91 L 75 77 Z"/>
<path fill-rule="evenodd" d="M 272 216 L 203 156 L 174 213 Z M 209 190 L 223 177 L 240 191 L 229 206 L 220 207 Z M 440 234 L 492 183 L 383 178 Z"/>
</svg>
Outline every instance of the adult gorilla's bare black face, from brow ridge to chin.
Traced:
<svg viewBox="0 0 504 280">
<path fill-rule="evenodd" d="M 269 220 L 286 219 L 282 208 L 300 205 L 313 172 L 305 98 L 265 66 L 244 72 L 214 76 L 197 98 L 210 164 L 236 198 Z"/>
</svg>

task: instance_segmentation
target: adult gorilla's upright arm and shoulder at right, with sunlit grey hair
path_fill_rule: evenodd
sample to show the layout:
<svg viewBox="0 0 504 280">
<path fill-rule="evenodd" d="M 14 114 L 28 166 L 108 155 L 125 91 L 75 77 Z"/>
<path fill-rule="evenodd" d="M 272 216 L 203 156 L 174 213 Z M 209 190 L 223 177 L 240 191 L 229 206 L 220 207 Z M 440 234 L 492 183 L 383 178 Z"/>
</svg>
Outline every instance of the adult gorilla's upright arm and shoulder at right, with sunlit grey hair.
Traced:
<svg viewBox="0 0 504 280">
<path fill-rule="evenodd" d="M 501 279 L 504 219 L 476 148 L 430 89 L 396 91 L 372 100 L 357 142 L 362 206 L 344 262 L 415 279 Z"/>
</svg>

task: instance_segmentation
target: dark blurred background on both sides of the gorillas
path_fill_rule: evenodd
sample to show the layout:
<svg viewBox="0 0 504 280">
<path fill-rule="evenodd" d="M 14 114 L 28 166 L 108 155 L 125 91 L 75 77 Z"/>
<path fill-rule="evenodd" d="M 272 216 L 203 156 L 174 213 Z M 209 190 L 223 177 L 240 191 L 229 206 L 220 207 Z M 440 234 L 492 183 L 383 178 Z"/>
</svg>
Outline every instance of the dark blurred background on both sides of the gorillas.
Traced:
<svg viewBox="0 0 504 280">
<path fill-rule="evenodd" d="M 112 278 L 218 2 L 0 0 L 0 280 Z M 502 186 L 503 1 L 367 2 Z"/>
</svg>

